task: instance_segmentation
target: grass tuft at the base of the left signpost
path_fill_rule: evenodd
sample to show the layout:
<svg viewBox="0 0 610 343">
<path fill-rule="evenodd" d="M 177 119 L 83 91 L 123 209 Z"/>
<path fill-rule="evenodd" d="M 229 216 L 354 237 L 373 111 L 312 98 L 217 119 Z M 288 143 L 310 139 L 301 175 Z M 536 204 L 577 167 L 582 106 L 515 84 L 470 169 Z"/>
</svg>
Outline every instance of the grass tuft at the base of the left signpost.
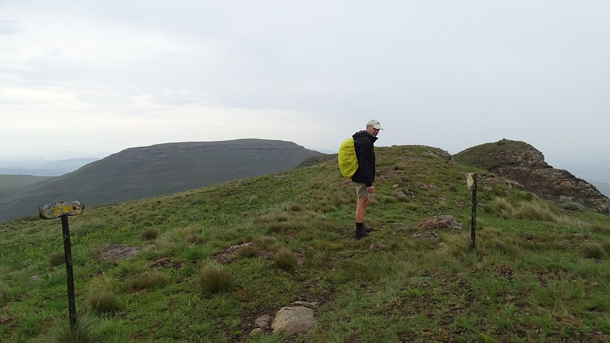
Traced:
<svg viewBox="0 0 610 343">
<path fill-rule="evenodd" d="M 62 320 L 59 325 L 51 331 L 51 341 L 57 343 L 93 343 L 99 342 L 99 328 L 95 317 L 88 312 L 77 311 L 76 325 L 70 327 L 70 322 Z"/>
</svg>

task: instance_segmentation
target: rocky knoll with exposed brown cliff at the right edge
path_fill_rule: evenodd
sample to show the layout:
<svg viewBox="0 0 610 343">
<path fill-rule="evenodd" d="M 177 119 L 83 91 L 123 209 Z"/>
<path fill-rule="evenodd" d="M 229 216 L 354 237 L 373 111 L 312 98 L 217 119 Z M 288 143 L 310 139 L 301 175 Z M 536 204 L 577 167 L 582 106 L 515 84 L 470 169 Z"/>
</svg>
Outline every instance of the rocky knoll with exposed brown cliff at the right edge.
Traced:
<svg viewBox="0 0 610 343">
<path fill-rule="evenodd" d="M 503 139 L 470 147 L 453 157 L 519 182 L 544 199 L 576 202 L 600 213 L 610 211 L 610 199 L 595 186 L 569 171 L 548 165 L 542 152 L 528 143 Z"/>
</svg>

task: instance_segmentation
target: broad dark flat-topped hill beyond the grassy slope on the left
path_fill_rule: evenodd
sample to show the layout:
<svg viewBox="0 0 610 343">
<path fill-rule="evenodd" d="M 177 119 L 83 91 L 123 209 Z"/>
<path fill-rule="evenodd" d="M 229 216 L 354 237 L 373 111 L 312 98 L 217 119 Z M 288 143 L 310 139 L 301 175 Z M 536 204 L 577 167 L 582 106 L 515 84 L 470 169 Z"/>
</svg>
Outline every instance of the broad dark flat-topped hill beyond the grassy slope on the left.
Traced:
<svg viewBox="0 0 610 343">
<path fill-rule="evenodd" d="M 0 199 L 0 221 L 62 200 L 124 202 L 285 171 L 319 154 L 292 142 L 257 139 L 133 147 Z"/>
</svg>

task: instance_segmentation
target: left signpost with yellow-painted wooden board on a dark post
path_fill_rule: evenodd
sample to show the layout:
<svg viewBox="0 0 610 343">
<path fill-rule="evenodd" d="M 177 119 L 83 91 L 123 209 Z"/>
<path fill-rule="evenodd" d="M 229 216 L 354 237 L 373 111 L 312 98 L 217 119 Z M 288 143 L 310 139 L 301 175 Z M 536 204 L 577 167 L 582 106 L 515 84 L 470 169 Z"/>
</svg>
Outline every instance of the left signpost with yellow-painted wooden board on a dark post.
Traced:
<svg viewBox="0 0 610 343">
<path fill-rule="evenodd" d="M 74 275 L 72 274 L 72 250 L 70 248 L 70 229 L 68 228 L 68 216 L 77 216 L 85 209 L 82 203 L 77 201 L 49 203 L 38 206 L 42 219 L 62 219 L 63 252 L 66 259 L 66 279 L 68 281 L 68 307 L 70 308 L 70 328 L 76 325 L 76 303 L 74 302 Z"/>
</svg>

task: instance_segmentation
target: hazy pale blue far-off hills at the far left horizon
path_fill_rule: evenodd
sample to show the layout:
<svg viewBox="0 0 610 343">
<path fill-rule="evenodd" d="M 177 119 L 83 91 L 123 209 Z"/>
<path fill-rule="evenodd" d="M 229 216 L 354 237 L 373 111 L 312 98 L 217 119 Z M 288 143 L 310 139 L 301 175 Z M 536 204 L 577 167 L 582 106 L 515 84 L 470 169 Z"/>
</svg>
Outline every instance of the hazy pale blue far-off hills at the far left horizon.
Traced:
<svg viewBox="0 0 610 343">
<path fill-rule="evenodd" d="M 14 164 L 0 168 L 1 175 L 60 176 L 81 168 L 87 163 L 98 161 L 97 157 L 69 158 L 68 160 L 43 163 Z"/>
</svg>

